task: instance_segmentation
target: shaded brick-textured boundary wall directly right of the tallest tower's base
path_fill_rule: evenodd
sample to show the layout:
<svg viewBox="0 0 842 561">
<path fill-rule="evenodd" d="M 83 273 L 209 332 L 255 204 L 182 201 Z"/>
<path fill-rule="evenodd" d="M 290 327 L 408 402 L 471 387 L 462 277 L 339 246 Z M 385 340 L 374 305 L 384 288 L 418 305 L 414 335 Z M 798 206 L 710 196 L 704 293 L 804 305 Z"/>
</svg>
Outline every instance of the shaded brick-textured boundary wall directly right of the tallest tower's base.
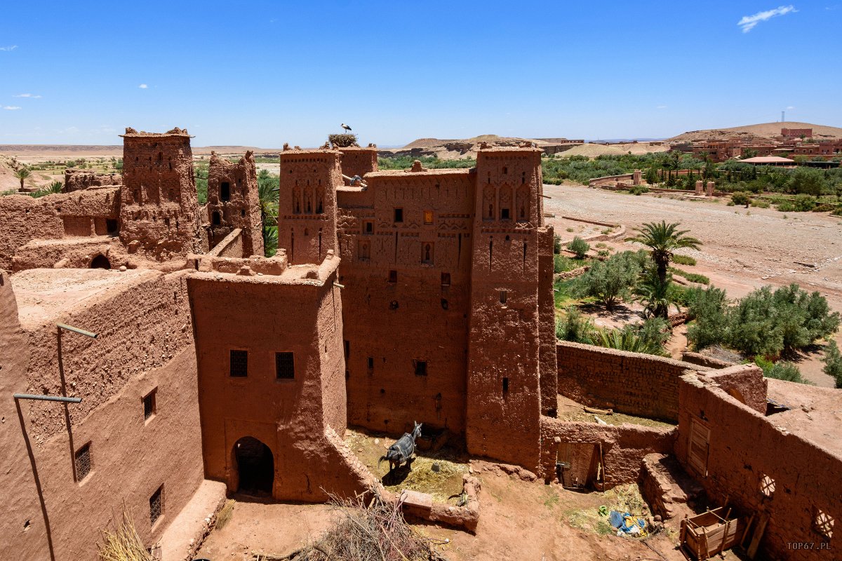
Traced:
<svg viewBox="0 0 842 561">
<path fill-rule="evenodd" d="M 709 368 L 637 352 L 559 341 L 558 393 L 583 405 L 675 421 L 679 377 Z"/>
</svg>

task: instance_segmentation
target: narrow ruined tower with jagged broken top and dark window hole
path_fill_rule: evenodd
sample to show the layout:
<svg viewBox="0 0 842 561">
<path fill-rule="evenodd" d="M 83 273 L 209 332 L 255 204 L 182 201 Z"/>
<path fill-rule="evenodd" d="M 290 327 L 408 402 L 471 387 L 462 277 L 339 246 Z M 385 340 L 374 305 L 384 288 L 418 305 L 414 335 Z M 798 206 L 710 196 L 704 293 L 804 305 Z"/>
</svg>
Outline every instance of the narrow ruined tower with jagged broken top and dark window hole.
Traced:
<svg viewBox="0 0 842 561">
<path fill-rule="evenodd" d="M 232 230 L 242 229 L 244 255 L 263 255 L 257 170 L 253 152 L 233 163 L 210 152 L 208 167 L 208 245 L 216 246 Z"/>
</svg>

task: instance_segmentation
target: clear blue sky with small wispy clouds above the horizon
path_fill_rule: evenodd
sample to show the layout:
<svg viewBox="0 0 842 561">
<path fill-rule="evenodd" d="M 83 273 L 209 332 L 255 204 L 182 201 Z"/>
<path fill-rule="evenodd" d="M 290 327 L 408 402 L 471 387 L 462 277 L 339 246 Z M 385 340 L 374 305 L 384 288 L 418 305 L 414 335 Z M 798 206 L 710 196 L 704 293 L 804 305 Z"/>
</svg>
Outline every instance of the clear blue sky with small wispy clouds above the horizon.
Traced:
<svg viewBox="0 0 842 561">
<path fill-rule="evenodd" d="M 195 146 L 316 146 L 343 122 L 380 146 L 666 137 L 785 108 L 842 126 L 840 51 L 834 0 L 9 1 L 0 144 L 180 126 Z"/>
</svg>

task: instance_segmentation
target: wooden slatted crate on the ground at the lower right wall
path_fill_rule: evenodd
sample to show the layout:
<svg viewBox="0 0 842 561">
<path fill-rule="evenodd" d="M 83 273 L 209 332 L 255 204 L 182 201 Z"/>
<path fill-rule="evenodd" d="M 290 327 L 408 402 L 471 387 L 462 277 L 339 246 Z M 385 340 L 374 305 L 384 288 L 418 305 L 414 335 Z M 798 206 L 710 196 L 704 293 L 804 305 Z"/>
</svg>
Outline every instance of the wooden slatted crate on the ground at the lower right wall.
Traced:
<svg viewBox="0 0 842 561">
<path fill-rule="evenodd" d="M 745 531 L 745 520 L 731 517 L 724 506 L 681 521 L 681 551 L 690 558 L 704 559 L 737 545 Z"/>
</svg>

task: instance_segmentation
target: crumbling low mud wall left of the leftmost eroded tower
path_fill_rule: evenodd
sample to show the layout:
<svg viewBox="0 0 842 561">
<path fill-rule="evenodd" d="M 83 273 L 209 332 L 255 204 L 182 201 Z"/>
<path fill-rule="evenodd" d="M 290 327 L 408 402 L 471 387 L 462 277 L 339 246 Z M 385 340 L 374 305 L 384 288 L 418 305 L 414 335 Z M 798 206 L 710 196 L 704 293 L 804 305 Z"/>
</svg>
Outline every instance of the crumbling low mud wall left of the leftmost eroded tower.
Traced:
<svg viewBox="0 0 842 561">
<path fill-rule="evenodd" d="M 0 197 L 0 267 L 12 268 L 15 251 L 32 240 L 104 236 L 117 229 L 120 188 L 92 188 L 41 198 Z M 38 267 L 51 267 L 44 262 Z"/>
</svg>

